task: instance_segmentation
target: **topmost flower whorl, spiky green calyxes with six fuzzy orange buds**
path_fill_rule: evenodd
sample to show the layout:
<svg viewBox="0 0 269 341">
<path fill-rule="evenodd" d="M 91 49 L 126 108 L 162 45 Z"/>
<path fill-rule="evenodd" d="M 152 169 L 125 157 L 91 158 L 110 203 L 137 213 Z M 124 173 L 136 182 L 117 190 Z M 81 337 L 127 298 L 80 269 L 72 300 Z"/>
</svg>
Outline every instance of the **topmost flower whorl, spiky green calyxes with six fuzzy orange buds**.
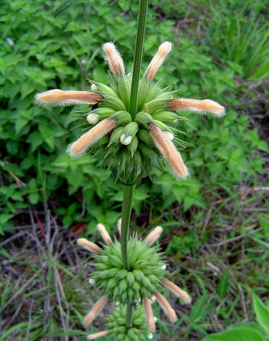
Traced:
<svg viewBox="0 0 269 341">
<path fill-rule="evenodd" d="M 225 108 L 211 100 L 173 99 L 177 91 L 161 89 L 160 82 L 154 82 L 158 69 L 173 47 L 165 41 L 139 80 L 137 108 L 131 116 L 132 71 L 125 74 L 123 59 L 112 42 L 102 47 L 112 72 L 109 74 L 110 86 L 90 80 L 91 91 L 54 89 L 35 95 L 35 101 L 40 105 L 92 106 L 77 111 L 87 131 L 67 147 L 67 153 L 72 158 L 91 153 L 102 160 L 103 167 L 112 169 L 116 179 L 124 172 L 130 174 L 133 169 L 136 178 L 151 176 L 153 167 L 159 168 L 158 160 L 162 158 L 170 165 L 176 179 L 186 179 L 188 168 L 177 148 L 187 146 L 178 137 L 178 134 L 185 134 L 178 129 L 178 124 L 188 119 L 179 116 L 178 112 L 191 111 L 219 118 L 225 114 Z"/>
</svg>

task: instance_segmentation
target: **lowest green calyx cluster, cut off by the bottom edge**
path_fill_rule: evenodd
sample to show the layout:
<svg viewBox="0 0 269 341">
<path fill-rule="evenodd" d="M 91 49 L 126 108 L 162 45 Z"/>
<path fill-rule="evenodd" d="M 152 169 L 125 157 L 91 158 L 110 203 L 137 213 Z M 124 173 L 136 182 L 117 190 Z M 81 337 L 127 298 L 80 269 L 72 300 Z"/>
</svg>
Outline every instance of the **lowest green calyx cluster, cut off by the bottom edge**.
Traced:
<svg viewBox="0 0 269 341">
<path fill-rule="evenodd" d="M 126 304 L 116 306 L 114 312 L 108 316 L 109 335 L 119 341 L 146 341 L 148 332 L 143 308 L 138 306 L 133 311 L 132 327 L 128 328 L 126 327 L 126 307 Z"/>
</svg>

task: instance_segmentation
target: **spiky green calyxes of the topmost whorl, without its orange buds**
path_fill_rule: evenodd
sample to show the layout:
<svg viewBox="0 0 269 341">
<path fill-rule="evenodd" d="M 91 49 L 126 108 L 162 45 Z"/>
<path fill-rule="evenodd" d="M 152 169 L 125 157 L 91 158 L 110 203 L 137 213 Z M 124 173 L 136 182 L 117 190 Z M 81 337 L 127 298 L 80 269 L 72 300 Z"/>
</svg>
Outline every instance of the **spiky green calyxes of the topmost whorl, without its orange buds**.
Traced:
<svg viewBox="0 0 269 341">
<path fill-rule="evenodd" d="M 81 113 L 87 130 L 89 123 L 92 128 L 107 118 L 116 118 L 117 124 L 114 131 L 108 135 L 109 140 L 99 140 L 89 152 L 102 160 L 103 167 L 112 168 L 116 177 L 121 176 L 124 170 L 130 174 L 133 167 L 136 169 L 137 178 L 151 176 L 153 167 L 159 167 L 158 158 L 161 155 L 149 134 L 147 124 L 154 123 L 162 131 L 177 135 L 180 132 L 176 129 L 178 121 L 186 118 L 167 109 L 167 103 L 174 91 L 160 89 L 160 82 L 149 82 L 146 75 L 139 81 L 137 112 L 131 117 L 128 110 L 132 75 L 126 76 L 121 72 L 117 79 L 109 75 L 110 87 L 90 81 L 97 87 L 94 91 L 104 97 L 104 100 L 98 103 L 98 108 Z M 186 147 L 186 143 L 178 138 L 173 141 L 176 145 Z"/>
</svg>

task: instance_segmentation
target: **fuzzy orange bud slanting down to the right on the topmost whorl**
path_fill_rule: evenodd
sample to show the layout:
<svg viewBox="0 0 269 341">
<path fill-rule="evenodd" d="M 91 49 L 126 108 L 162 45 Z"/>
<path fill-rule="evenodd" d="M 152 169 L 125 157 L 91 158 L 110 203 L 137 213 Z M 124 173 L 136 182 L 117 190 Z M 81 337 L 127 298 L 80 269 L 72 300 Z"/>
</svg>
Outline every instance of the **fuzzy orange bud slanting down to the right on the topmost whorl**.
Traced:
<svg viewBox="0 0 269 341">
<path fill-rule="evenodd" d="M 181 155 L 176 150 L 173 143 L 163 134 L 163 132 L 154 123 L 148 124 L 149 133 L 153 138 L 156 147 L 159 149 L 164 159 L 170 164 L 175 178 L 186 179 L 189 175 Z"/>
</svg>

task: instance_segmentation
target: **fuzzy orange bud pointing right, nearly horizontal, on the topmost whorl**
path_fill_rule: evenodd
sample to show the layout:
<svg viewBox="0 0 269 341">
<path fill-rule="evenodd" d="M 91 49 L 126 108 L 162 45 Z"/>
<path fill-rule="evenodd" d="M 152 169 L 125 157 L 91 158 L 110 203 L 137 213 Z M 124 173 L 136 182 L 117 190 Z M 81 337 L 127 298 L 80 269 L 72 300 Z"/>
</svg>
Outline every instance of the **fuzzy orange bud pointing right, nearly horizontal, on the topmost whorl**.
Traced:
<svg viewBox="0 0 269 341">
<path fill-rule="evenodd" d="M 219 103 L 211 100 L 193 100 L 179 98 L 172 100 L 167 104 L 167 107 L 173 111 L 193 111 L 197 114 L 210 113 L 212 116 L 222 117 L 225 115 L 225 108 Z"/>
</svg>

